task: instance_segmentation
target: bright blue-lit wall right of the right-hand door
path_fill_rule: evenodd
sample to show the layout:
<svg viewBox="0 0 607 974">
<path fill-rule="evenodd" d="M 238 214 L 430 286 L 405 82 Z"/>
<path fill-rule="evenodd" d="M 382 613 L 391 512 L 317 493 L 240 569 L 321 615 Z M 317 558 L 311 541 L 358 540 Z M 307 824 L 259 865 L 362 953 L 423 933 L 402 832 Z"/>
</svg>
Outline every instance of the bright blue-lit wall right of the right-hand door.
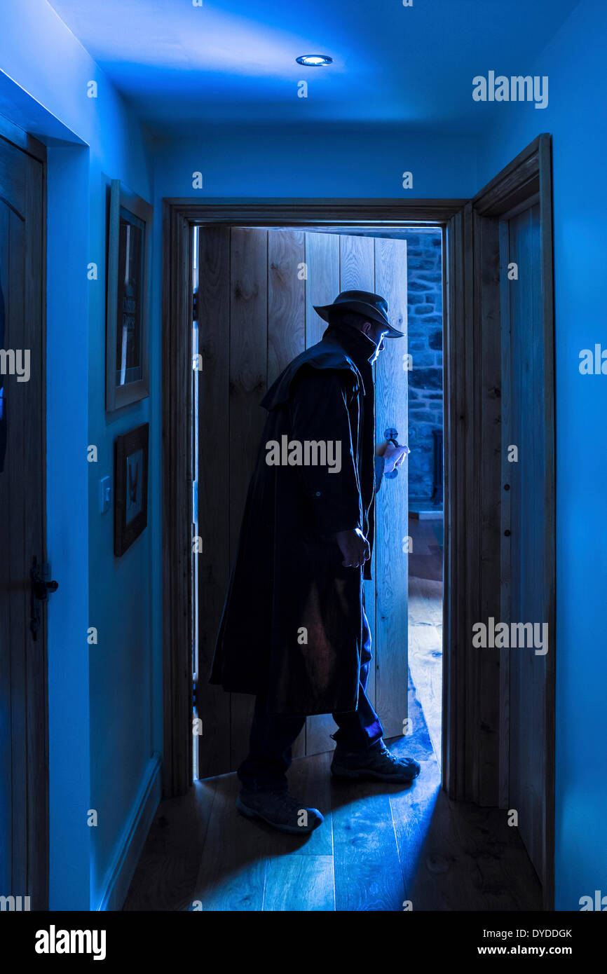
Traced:
<svg viewBox="0 0 607 974">
<path fill-rule="evenodd" d="M 500 106 L 501 124 L 483 139 L 478 160 L 480 187 L 540 131 L 552 134 L 557 910 L 579 910 L 580 897 L 595 889 L 607 893 L 607 376 L 579 370 L 583 349 L 606 347 L 597 316 L 607 222 L 605 37 L 607 8 L 583 0 L 535 64 L 525 65 L 527 73 L 549 76 L 548 108 Z"/>
</svg>

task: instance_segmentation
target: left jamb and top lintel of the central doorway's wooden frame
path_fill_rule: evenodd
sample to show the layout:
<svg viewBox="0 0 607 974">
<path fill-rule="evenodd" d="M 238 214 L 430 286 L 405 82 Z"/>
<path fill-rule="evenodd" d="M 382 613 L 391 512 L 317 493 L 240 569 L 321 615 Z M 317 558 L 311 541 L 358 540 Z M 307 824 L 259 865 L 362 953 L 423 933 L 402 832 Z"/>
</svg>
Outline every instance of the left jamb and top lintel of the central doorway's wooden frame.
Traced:
<svg viewBox="0 0 607 974">
<path fill-rule="evenodd" d="M 209 200 L 163 201 L 163 793 L 184 794 L 192 782 L 191 413 L 192 271 L 194 224 L 315 228 L 378 223 L 398 226 L 448 221 L 466 200 Z M 444 251 L 444 246 L 443 246 Z M 443 285 L 446 268 L 443 259 Z M 448 302 L 443 301 L 443 336 Z M 448 355 L 448 353 L 447 353 Z M 446 372 L 446 369 L 443 370 Z M 445 494 L 448 487 L 445 484 Z M 445 537 L 447 528 L 445 525 Z"/>
</svg>

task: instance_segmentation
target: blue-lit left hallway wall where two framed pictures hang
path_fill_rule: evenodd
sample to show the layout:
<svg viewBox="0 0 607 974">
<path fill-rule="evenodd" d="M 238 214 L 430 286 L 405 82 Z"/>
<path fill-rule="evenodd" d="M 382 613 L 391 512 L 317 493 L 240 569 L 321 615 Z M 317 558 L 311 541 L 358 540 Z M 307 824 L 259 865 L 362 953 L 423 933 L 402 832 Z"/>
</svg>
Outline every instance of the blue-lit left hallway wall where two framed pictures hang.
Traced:
<svg viewBox="0 0 607 974">
<path fill-rule="evenodd" d="M 137 120 L 48 4 L 3 6 L 0 63 L 0 112 L 49 143 L 47 518 L 59 582 L 49 604 L 50 906 L 96 910 L 162 742 L 156 529 L 115 559 L 113 513 L 100 515 L 97 500 L 115 436 L 150 417 L 148 399 L 105 419 L 105 176 L 151 200 L 152 174 Z M 154 505 L 158 454 L 150 460 Z"/>
</svg>

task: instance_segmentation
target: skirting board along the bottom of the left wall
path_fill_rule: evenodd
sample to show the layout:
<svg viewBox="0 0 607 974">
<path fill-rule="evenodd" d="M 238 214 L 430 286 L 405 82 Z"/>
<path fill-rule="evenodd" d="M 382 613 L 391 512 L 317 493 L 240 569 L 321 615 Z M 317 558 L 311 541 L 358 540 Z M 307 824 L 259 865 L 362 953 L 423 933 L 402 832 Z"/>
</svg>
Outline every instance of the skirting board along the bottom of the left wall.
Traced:
<svg viewBox="0 0 607 974">
<path fill-rule="evenodd" d="M 106 876 L 101 900 L 99 905 L 94 907 L 96 910 L 114 911 L 123 908 L 143 844 L 160 804 L 161 764 L 160 754 L 155 752 L 141 778 L 131 815 L 123 831 L 122 841 Z"/>
</svg>

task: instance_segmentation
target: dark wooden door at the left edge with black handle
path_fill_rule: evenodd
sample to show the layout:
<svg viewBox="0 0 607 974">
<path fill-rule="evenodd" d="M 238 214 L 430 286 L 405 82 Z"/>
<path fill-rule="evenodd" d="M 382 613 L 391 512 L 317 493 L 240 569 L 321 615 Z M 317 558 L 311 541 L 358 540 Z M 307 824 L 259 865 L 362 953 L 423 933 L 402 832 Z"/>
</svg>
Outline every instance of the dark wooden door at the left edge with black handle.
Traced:
<svg viewBox="0 0 607 974">
<path fill-rule="evenodd" d="M 46 150 L 16 137 L 36 158 L 0 136 L 0 895 L 46 910 Z"/>
</svg>

